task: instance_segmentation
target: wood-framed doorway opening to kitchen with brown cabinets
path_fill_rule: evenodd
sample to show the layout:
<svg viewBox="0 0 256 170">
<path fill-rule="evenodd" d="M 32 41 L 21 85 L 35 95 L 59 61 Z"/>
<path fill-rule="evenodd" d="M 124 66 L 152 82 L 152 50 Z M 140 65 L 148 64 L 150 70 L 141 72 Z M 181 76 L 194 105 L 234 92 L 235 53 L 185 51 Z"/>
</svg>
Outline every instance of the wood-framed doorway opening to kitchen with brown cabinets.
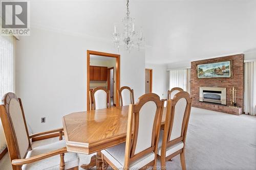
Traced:
<svg viewBox="0 0 256 170">
<path fill-rule="evenodd" d="M 120 55 L 87 51 L 87 110 L 90 110 L 89 91 L 96 87 L 112 90 L 111 104 L 119 106 L 116 91 L 120 89 Z"/>
</svg>

